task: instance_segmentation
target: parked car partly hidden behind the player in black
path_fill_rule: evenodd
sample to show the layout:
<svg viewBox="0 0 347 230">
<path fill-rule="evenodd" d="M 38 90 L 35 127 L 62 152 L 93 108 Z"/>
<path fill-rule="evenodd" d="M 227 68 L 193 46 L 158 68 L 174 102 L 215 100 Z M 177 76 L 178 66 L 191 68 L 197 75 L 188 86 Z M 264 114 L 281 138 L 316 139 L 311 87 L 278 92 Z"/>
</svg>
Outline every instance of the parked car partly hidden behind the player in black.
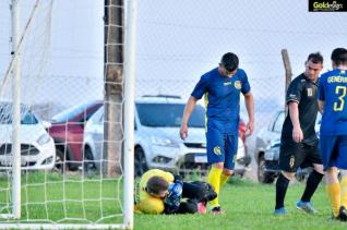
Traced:
<svg viewBox="0 0 347 230">
<path fill-rule="evenodd" d="M 267 128 L 263 128 L 256 135 L 254 159 L 258 162 L 258 180 L 261 183 L 273 183 L 278 175 L 280 132 L 285 121 L 285 111 L 278 111 Z M 319 135 L 321 114 L 318 114 L 315 131 Z M 308 169 L 298 169 L 296 178 L 302 180 Z"/>
</svg>

